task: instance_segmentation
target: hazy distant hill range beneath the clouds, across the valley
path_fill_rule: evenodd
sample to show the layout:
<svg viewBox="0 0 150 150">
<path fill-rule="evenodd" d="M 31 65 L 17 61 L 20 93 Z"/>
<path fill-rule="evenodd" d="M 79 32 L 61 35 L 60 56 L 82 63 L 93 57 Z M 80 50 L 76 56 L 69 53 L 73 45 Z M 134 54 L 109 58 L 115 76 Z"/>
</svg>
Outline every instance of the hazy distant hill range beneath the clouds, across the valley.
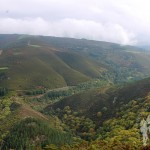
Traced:
<svg viewBox="0 0 150 150">
<path fill-rule="evenodd" d="M 85 39 L 0 35 L 0 85 L 9 89 L 58 88 L 93 78 L 113 83 L 150 75 L 150 53 Z"/>
</svg>

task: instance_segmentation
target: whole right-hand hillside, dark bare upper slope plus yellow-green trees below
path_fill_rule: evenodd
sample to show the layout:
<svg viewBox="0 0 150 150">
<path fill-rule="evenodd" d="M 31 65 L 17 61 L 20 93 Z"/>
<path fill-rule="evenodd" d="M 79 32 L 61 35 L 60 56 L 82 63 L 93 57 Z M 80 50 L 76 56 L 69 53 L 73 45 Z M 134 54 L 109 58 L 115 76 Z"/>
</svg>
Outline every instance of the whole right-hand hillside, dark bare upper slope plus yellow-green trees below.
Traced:
<svg viewBox="0 0 150 150">
<path fill-rule="evenodd" d="M 44 112 L 58 116 L 81 139 L 94 141 L 79 145 L 79 149 L 90 149 L 93 145 L 102 150 L 141 150 L 140 121 L 150 115 L 149 94 L 147 78 L 75 94 L 49 105 Z"/>
</svg>

